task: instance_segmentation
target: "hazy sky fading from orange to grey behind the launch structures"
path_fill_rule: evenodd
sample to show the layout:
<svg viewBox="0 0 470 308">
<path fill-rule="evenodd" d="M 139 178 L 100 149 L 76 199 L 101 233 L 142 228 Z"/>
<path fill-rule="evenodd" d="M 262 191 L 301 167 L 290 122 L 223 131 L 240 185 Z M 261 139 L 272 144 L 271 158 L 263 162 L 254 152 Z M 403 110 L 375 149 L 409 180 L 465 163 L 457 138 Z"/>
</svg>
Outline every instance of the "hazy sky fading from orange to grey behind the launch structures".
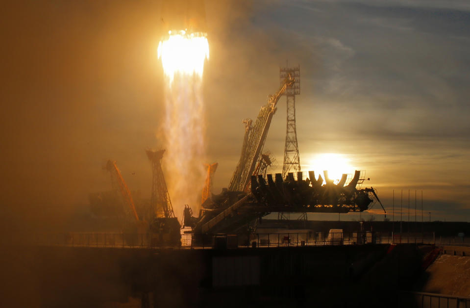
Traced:
<svg viewBox="0 0 470 308">
<path fill-rule="evenodd" d="M 343 154 L 366 170 L 364 185 L 377 189 L 389 218 L 393 191 L 398 216 L 403 189 L 404 207 L 408 190 L 412 205 L 423 191 L 425 219 L 431 212 L 432 220 L 470 221 L 467 1 L 208 0 L 205 9 L 214 193 L 239 159 L 242 120 L 277 90 L 288 60 L 300 65 L 302 170 L 317 154 Z M 2 228 L 66 228 L 89 211 L 88 193 L 111 188 L 102 170 L 110 158 L 129 188 L 149 198 L 145 149 L 161 145 L 165 111 L 159 10 L 151 0 L 4 5 Z M 278 162 L 273 172 L 282 169 L 285 115 L 281 99 L 265 145 Z"/>
</svg>

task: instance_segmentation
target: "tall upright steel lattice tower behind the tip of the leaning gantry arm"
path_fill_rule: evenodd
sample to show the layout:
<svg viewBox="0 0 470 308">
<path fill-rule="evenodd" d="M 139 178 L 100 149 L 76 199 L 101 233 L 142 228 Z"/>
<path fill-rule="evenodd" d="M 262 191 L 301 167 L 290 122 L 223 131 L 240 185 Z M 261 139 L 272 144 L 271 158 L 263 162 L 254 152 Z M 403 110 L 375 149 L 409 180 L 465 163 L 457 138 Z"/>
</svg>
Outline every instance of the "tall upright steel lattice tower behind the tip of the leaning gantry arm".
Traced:
<svg viewBox="0 0 470 308">
<path fill-rule="evenodd" d="M 286 144 L 284 148 L 284 164 L 282 165 L 282 177 L 284 179 L 291 170 L 292 172 L 301 171 L 296 128 L 296 95 L 300 94 L 300 66 L 280 68 L 279 77 L 281 80 L 284 80 L 289 74 L 296 81 L 284 92 L 287 98 Z"/>
</svg>

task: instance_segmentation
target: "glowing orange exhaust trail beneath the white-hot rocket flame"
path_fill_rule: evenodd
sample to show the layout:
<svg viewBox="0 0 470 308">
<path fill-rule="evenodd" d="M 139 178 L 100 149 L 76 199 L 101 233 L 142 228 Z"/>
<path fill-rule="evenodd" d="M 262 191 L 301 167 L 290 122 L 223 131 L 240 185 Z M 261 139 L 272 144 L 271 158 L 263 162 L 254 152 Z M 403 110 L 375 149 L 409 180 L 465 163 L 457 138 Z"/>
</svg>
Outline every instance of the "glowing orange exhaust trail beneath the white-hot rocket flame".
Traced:
<svg viewBox="0 0 470 308">
<path fill-rule="evenodd" d="M 164 169 L 175 215 L 185 204 L 195 205 L 204 184 L 205 117 L 201 76 L 178 74 L 167 78 L 165 122 L 162 128 L 167 149 Z"/>
</svg>

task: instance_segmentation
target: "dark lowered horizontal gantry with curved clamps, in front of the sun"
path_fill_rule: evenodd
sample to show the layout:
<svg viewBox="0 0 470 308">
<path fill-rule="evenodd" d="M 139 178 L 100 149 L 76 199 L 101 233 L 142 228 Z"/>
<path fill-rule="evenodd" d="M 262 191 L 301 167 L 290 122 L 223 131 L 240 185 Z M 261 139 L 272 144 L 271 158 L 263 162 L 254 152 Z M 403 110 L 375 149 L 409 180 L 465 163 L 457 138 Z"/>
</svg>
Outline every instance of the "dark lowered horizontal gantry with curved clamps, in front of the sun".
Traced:
<svg viewBox="0 0 470 308">
<path fill-rule="evenodd" d="M 360 171 L 347 184 L 346 174 L 338 184 L 325 174 L 324 185 L 321 175 L 315 179 L 313 171 L 308 174 L 312 180 L 303 180 L 301 172 L 297 178 L 294 173 L 288 173 L 285 180 L 280 173 L 251 176 L 249 193 L 225 190 L 205 205 L 199 219 L 188 216 L 187 222 L 196 234 L 249 232 L 253 221 L 272 212 L 299 213 L 301 218 L 304 213 L 362 212 L 374 201 L 380 203 L 372 187 L 356 188 Z"/>
</svg>

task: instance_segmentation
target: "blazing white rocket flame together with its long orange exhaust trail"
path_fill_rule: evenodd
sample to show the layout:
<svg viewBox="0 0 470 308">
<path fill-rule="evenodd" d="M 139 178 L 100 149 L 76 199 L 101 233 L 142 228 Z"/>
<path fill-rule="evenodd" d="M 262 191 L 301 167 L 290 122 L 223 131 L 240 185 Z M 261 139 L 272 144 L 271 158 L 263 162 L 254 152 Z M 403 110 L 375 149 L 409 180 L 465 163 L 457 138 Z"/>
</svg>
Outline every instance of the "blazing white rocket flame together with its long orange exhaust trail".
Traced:
<svg viewBox="0 0 470 308">
<path fill-rule="evenodd" d="M 205 120 L 202 73 L 209 43 L 202 32 L 169 31 L 158 45 L 165 75 L 165 177 L 175 215 L 185 204 L 198 205 L 204 185 Z M 193 206 L 194 208 L 194 206 Z"/>
</svg>

